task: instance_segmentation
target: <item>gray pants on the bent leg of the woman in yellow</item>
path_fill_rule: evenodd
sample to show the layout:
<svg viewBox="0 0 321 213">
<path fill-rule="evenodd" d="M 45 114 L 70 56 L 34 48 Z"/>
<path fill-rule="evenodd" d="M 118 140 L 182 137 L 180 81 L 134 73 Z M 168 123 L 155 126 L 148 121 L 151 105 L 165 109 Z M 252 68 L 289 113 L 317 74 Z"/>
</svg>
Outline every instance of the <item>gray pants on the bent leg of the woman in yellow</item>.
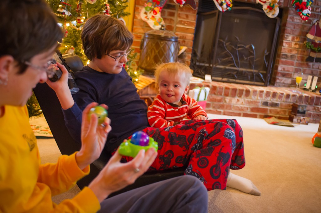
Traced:
<svg viewBox="0 0 321 213">
<path fill-rule="evenodd" d="M 118 194 L 100 203 L 110 213 L 206 213 L 207 190 L 194 176 L 179 176 Z"/>
</svg>

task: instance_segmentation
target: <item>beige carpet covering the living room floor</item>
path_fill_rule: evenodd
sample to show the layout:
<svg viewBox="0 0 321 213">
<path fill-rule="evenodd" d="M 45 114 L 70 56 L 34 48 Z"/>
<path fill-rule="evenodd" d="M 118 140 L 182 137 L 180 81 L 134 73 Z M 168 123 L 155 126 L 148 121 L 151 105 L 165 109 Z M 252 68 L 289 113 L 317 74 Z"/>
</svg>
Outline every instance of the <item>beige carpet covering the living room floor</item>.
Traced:
<svg viewBox="0 0 321 213">
<path fill-rule="evenodd" d="M 269 125 L 263 119 L 210 115 L 214 118 L 236 118 L 243 127 L 245 168 L 232 171 L 253 181 L 261 196 L 227 188 L 209 195 L 210 213 L 321 212 L 321 148 L 311 138 L 318 124 L 282 127 Z M 55 162 L 60 152 L 54 139 L 38 139 L 41 160 Z M 59 203 L 71 198 L 79 188 L 55 196 Z"/>
</svg>

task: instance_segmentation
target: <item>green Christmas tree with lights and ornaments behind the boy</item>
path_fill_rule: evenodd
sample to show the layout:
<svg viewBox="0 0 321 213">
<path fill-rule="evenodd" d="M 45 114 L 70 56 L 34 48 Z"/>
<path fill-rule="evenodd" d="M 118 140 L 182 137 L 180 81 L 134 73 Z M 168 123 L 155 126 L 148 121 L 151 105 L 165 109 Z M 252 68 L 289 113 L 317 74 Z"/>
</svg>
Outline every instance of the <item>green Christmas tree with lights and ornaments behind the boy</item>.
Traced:
<svg viewBox="0 0 321 213">
<path fill-rule="evenodd" d="M 88 58 L 82 50 L 81 30 L 84 22 L 91 16 L 101 13 L 108 16 L 116 17 L 122 21 L 123 17 L 130 13 L 126 12 L 128 0 L 46 0 L 52 11 L 55 13 L 58 25 L 65 32 L 60 51 L 63 54 L 74 53 L 78 55 L 86 65 L 89 63 Z M 125 22 L 125 21 L 124 21 Z M 136 70 L 132 62 L 137 53 L 131 51 L 127 56 L 125 70 L 133 78 L 133 82 L 138 81 L 142 70 Z M 37 99 L 33 95 L 28 101 L 29 117 L 41 115 L 41 109 Z"/>
</svg>

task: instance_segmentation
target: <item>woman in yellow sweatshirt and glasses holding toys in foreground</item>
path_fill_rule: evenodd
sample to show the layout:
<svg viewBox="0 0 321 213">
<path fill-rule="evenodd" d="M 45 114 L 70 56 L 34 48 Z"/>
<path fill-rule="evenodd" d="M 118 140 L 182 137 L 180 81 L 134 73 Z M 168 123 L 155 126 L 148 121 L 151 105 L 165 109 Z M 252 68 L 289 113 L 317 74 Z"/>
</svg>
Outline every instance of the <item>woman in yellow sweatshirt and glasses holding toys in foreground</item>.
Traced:
<svg viewBox="0 0 321 213">
<path fill-rule="evenodd" d="M 52 74 L 48 61 L 63 34 L 43 0 L 2 0 L 0 19 L 0 212 L 207 212 L 206 189 L 192 176 L 104 200 L 149 168 L 157 155 L 154 149 L 139 152 L 127 163 L 120 163 L 117 152 L 73 199 L 53 203 L 53 195 L 69 190 L 90 172 L 111 130 L 110 120 L 101 126 L 96 115 L 88 119 L 97 103 L 89 104 L 83 111 L 81 150 L 61 156 L 56 164 L 41 165 L 25 104 L 32 88 Z M 66 81 L 67 71 L 57 66 Z"/>
</svg>

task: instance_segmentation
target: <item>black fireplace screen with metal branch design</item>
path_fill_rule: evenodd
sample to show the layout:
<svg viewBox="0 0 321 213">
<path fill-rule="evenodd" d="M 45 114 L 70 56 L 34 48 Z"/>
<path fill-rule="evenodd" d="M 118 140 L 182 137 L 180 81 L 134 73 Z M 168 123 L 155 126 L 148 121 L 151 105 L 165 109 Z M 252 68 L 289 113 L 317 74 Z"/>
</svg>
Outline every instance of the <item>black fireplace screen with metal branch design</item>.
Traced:
<svg viewBox="0 0 321 213">
<path fill-rule="evenodd" d="M 267 86 L 271 77 L 280 18 L 262 9 L 235 5 L 224 13 L 212 0 L 199 4 L 190 67 L 212 80 Z M 200 12 L 211 10 L 209 12 Z"/>
</svg>

